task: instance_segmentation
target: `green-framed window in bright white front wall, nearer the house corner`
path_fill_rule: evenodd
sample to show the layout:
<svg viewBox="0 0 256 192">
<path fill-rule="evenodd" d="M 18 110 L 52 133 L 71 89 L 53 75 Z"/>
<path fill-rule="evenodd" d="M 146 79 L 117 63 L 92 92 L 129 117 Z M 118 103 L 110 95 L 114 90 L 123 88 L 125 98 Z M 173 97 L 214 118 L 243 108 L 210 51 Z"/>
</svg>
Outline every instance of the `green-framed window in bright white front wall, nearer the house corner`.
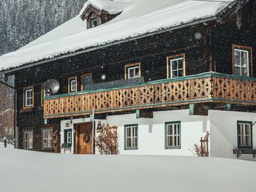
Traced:
<svg viewBox="0 0 256 192">
<path fill-rule="evenodd" d="M 165 123 L 165 149 L 181 148 L 181 122 Z"/>
</svg>

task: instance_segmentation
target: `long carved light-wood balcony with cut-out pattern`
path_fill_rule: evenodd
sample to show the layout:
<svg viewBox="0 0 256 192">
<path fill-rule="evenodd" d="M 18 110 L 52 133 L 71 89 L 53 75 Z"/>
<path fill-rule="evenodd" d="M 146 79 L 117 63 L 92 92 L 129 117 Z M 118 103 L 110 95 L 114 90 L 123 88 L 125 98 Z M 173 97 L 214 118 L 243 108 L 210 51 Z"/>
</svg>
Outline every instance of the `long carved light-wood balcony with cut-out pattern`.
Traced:
<svg viewBox="0 0 256 192">
<path fill-rule="evenodd" d="M 256 78 L 207 72 L 121 88 L 44 99 L 44 118 L 137 110 L 199 102 L 256 105 Z"/>
</svg>

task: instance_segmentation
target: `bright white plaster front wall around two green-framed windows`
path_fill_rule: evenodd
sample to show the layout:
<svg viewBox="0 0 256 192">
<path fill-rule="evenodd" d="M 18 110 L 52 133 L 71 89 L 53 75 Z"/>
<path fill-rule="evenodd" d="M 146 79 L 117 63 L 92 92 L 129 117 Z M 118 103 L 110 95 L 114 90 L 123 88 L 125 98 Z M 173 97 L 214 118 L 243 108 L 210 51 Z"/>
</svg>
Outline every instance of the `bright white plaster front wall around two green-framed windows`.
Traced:
<svg viewBox="0 0 256 192">
<path fill-rule="evenodd" d="M 118 150 L 122 155 L 194 155 L 192 149 L 209 130 L 207 116 L 189 115 L 189 110 L 154 112 L 154 118 L 136 119 L 135 114 L 113 115 L 110 126 L 118 126 Z M 181 149 L 165 149 L 165 122 L 181 121 Z M 124 150 L 124 125 L 138 124 L 138 150 Z"/>
</svg>

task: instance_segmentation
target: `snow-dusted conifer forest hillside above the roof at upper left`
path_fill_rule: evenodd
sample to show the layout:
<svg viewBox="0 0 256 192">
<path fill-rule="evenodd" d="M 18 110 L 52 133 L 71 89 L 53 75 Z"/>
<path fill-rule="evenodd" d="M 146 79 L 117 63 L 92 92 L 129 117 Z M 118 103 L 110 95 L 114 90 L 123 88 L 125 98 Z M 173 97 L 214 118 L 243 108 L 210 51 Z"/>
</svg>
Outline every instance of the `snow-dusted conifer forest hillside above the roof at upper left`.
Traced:
<svg viewBox="0 0 256 192">
<path fill-rule="evenodd" d="M 86 0 L 0 0 L 0 55 L 17 50 L 78 14 Z"/>
</svg>

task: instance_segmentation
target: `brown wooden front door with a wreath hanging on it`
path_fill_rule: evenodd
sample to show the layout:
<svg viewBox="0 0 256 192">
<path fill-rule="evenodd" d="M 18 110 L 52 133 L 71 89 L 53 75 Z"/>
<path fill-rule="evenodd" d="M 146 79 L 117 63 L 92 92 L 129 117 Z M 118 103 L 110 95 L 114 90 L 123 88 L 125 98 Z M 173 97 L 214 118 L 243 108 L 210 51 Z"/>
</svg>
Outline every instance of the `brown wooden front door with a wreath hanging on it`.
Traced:
<svg viewBox="0 0 256 192">
<path fill-rule="evenodd" d="M 75 152 L 77 154 L 93 154 L 91 150 L 92 123 L 79 124 L 75 134 Z"/>
</svg>

